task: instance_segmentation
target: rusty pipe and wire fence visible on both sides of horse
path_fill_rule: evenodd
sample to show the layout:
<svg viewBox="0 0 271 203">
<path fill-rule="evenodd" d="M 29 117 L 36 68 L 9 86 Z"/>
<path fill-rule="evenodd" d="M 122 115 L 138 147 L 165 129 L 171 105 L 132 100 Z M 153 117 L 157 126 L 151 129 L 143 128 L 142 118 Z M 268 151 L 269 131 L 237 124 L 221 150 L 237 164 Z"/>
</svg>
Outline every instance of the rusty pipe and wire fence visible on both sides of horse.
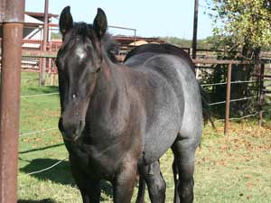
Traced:
<svg viewBox="0 0 271 203">
<path fill-rule="evenodd" d="M 48 47 L 50 47 L 50 45 Z M 25 61 L 32 60 L 33 61 L 33 59 L 34 59 L 34 61 L 37 62 L 35 64 L 35 66 L 23 68 L 23 70 L 24 71 L 35 71 L 38 73 L 40 71 L 39 61 L 41 61 L 41 59 L 46 59 L 46 61 L 47 61 L 47 69 L 46 69 L 47 75 L 48 76 L 53 75 L 54 77 L 56 77 L 57 69 L 56 69 L 54 62 L 53 62 L 56 58 L 56 54 L 57 54 L 57 49 L 56 50 L 48 50 L 48 51 L 23 50 L 23 60 L 25 60 Z M 23 64 L 23 60 L 22 60 L 22 64 Z M 50 63 L 49 63 L 49 61 L 50 61 Z M 241 117 L 236 118 L 236 117 L 230 117 L 230 104 L 234 103 L 234 102 L 240 102 L 240 101 L 244 101 L 244 100 L 254 99 L 257 101 L 258 106 L 264 105 L 264 100 L 265 100 L 266 94 L 271 93 L 271 91 L 266 89 L 267 87 L 265 86 L 265 81 L 268 80 L 268 78 L 271 78 L 271 75 L 265 75 L 265 69 L 266 69 L 265 67 L 266 67 L 266 64 L 268 65 L 268 63 L 262 63 L 262 64 L 260 64 L 259 69 L 255 69 L 255 72 L 253 73 L 254 78 L 251 78 L 249 80 L 238 80 L 238 81 L 236 81 L 236 80 L 233 81 L 231 78 L 231 76 L 232 76 L 231 72 L 232 72 L 233 67 L 237 66 L 235 68 L 242 69 L 242 66 L 247 66 L 247 65 L 255 66 L 255 64 L 253 64 L 253 62 L 247 61 L 247 60 L 241 61 L 241 60 L 196 59 L 196 60 L 193 60 L 193 63 L 195 64 L 195 67 L 196 67 L 196 76 L 199 79 L 201 78 L 201 71 L 204 69 L 221 69 L 221 67 L 219 65 L 224 66 L 224 68 L 227 69 L 227 76 L 225 76 L 226 81 L 219 82 L 219 83 L 206 83 L 203 81 L 201 83 L 202 88 L 226 86 L 225 99 L 221 100 L 221 101 L 216 101 L 216 102 L 210 103 L 210 108 L 212 108 L 213 106 L 225 105 L 225 108 L 224 108 L 225 109 L 225 117 L 224 117 L 224 119 L 221 119 L 221 121 L 224 122 L 224 134 L 229 134 L 229 121 L 230 120 L 244 119 L 244 118 L 247 118 L 250 116 L 259 115 L 259 124 L 261 125 L 263 113 L 264 113 L 264 110 L 262 107 L 259 107 L 254 114 L 243 115 Z M 51 67 L 48 64 L 51 64 Z M 267 69 L 270 69 L 270 68 L 267 68 Z M 238 98 L 232 99 L 231 98 L 232 85 L 246 84 L 246 83 L 254 83 L 257 85 L 257 95 L 253 96 L 253 97 L 238 97 Z M 51 83 L 50 85 L 56 85 L 56 83 Z M 58 92 L 41 94 L 41 95 L 25 95 L 25 96 L 21 96 L 21 98 L 34 99 L 35 97 L 50 97 L 50 96 L 57 95 L 57 94 L 58 94 Z M 32 136 L 34 134 L 48 133 L 48 132 L 57 131 L 57 130 L 58 130 L 58 128 L 56 126 L 51 126 L 47 129 L 21 133 L 19 136 L 20 137 L 27 137 L 27 136 Z M 28 174 L 31 175 L 31 174 L 51 170 L 53 167 L 56 167 L 57 165 L 61 164 L 61 162 L 66 161 L 66 160 L 67 160 L 67 157 L 61 158 L 59 161 L 56 161 L 51 166 L 48 166 L 45 169 L 42 169 L 40 171 L 32 171 Z"/>
</svg>

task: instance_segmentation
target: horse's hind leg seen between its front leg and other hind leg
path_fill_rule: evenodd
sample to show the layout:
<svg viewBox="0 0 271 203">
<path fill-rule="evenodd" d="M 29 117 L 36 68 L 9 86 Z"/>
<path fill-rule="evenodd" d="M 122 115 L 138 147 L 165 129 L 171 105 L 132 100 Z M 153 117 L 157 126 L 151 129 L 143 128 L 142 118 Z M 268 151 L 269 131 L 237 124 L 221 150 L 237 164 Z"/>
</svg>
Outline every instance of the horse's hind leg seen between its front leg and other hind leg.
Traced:
<svg viewBox="0 0 271 203">
<path fill-rule="evenodd" d="M 159 161 L 139 167 L 140 176 L 147 184 L 149 197 L 152 203 L 164 203 L 166 184 L 160 171 Z"/>
</svg>

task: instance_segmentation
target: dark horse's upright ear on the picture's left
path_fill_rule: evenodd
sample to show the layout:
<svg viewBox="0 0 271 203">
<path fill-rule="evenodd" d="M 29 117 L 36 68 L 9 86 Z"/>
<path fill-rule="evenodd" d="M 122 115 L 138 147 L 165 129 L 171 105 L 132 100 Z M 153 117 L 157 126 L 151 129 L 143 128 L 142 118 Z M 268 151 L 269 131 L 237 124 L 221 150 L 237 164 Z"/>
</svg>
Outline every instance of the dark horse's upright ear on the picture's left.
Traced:
<svg viewBox="0 0 271 203">
<path fill-rule="evenodd" d="M 73 20 L 70 14 L 70 6 L 66 6 L 61 12 L 60 29 L 64 36 L 73 27 Z"/>
</svg>

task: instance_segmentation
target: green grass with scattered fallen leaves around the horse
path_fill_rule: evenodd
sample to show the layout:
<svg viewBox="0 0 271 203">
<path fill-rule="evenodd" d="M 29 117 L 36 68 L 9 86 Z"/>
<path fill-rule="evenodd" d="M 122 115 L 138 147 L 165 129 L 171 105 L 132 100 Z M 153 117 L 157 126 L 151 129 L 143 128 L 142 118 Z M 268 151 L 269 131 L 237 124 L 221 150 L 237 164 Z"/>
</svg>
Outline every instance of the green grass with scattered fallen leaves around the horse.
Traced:
<svg viewBox="0 0 271 203">
<path fill-rule="evenodd" d="M 23 73 L 22 95 L 58 91 L 56 87 L 38 87 L 34 73 Z M 24 97 L 21 101 L 21 132 L 57 127 L 60 115 L 58 95 Z M 267 203 L 271 202 L 271 124 L 259 128 L 256 120 L 230 123 L 230 134 L 223 136 L 206 125 L 201 148 L 196 154 L 195 203 Z M 18 202 L 78 203 L 79 189 L 72 180 L 69 162 L 64 160 L 50 171 L 40 171 L 65 159 L 68 153 L 58 130 L 20 138 Z M 161 168 L 167 183 L 166 202 L 173 202 L 172 152 L 166 152 Z M 112 202 L 112 190 L 103 182 L 102 202 Z M 135 202 L 136 187 L 132 202 Z M 146 198 L 147 202 L 150 202 Z"/>
</svg>

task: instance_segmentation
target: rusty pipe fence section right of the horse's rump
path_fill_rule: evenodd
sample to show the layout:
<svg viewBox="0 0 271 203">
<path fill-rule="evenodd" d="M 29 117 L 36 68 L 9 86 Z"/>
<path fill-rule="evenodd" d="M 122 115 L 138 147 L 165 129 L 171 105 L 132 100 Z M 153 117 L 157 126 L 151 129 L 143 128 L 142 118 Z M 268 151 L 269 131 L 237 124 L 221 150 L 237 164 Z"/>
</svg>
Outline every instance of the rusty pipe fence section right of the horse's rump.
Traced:
<svg viewBox="0 0 271 203">
<path fill-rule="evenodd" d="M 193 60 L 193 63 L 196 67 L 196 76 L 199 78 L 199 70 L 202 69 L 221 69 L 222 66 L 226 66 L 227 69 L 227 77 L 224 76 L 225 82 L 218 83 L 204 83 L 201 81 L 202 88 L 213 88 L 218 86 L 226 86 L 226 94 L 225 100 L 211 102 L 209 104 L 210 107 L 225 105 L 225 118 L 220 119 L 220 121 L 224 121 L 224 134 L 229 133 L 229 120 L 240 120 L 244 118 L 248 118 L 251 116 L 259 115 L 258 123 L 262 125 L 263 120 L 263 105 L 265 101 L 265 63 L 259 64 L 259 68 L 252 61 L 248 60 Z M 210 65 L 210 66 L 206 66 Z M 216 68 L 216 66 L 219 66 Z M 232 68 L 233 66 L 237 69 L 244 69 L 244 66 L 253 66 L 254 72 L 252 73 L 252 77 L 246 80 L 232 80 Z M 231 98 L 231 87 L 232 85 L 240 85 L 240 84 L 254 84 L 254 90 L 257 91 L 253 96 L 250 97 L 235 97 Z M 255 110 L 252 114 L 242 115 L 239 117 L 230 117 L 230 103 L 241 102 L 246 100 L 254 100 L 257 103 L 257 110 Z"/>
</svg>

